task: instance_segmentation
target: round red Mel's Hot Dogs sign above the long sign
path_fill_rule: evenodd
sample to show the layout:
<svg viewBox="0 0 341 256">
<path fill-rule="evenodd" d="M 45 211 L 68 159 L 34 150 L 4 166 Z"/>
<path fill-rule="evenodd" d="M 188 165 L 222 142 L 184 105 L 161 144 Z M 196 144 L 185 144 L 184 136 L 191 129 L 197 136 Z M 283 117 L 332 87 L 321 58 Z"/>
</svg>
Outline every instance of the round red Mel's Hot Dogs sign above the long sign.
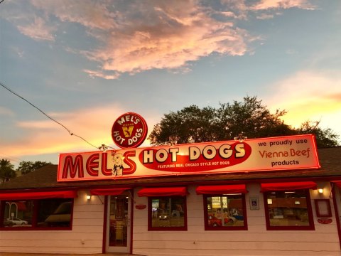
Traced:
<svg viewBox="0 0 341 256">
<path fill-rule="evenodd" d="M 139 114 L 128 112 L 116 119 L 112 126 L 112 139 L 121 148 L 140 146 L 146 139 L 148 127 Z"/>
</svg>

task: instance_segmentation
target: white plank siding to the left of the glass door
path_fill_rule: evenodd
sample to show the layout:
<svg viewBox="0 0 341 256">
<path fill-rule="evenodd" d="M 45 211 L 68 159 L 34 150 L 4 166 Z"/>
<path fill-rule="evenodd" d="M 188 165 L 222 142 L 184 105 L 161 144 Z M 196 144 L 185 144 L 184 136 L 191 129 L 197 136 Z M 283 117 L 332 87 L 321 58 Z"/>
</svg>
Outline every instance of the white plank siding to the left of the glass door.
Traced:
<svg viewBox="0 0 341 256">
<path fill-rule="evenodd" d="M 102 253 L 104 205 L 86 193 L 75 198 L 72 230 L 0 231 L 0 252 Z"/>
</svg>

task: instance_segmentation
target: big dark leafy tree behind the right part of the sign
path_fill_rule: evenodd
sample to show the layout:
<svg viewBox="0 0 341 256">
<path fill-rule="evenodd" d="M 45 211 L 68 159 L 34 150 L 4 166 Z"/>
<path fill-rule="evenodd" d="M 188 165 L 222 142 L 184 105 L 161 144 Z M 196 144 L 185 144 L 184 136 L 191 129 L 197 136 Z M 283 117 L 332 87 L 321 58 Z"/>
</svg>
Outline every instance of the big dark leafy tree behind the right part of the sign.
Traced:
<svg viewBox="0 0 341 256">
<path fill-rule="evenodd" d="M 321 129 L 320 122 L 304 122 L 296 129 L 281 117 L 286 110 L 273 114 L 257 97 L 244 97 L 242 102 L 220 103 L 217 109 L 196 105 L 165 114 L 149 135 L 152 145 L 216 142 L 230 140 L 243 133 L 249 139 L 296 134 L 315 134 L 318 147 L 337 146 L 339 136 L 331 129 Z"/>
</svg>

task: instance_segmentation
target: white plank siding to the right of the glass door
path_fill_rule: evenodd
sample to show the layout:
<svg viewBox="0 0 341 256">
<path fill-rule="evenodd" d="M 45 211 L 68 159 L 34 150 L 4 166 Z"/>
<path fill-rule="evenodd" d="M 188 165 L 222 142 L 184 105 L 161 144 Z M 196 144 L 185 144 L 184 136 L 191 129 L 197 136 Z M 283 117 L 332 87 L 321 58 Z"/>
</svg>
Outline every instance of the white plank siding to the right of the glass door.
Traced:
<svg viewBox="0 0 341 256">
<path fill-rule="evenodd" d="M 325 191 L 310 191 L 315 230 L 266 230 L 264 198 L 259 183 L 247 185 L 248 230 L 205 231 L 202 196 L 189 186 L 187 198 L 188 231 L 148 231 L 147 208 L 134 209 L 133 253 L 138 255 L 341 255 L 335 212 L 332 223 L 320 224 L 314 199 L 329 198 L 329 183 L 319 183 Z M 136 204 L 147 204 L 137 196 Z M 259 210 L 250 210 L 249 196 L 259 196 Z"/>
</svg>

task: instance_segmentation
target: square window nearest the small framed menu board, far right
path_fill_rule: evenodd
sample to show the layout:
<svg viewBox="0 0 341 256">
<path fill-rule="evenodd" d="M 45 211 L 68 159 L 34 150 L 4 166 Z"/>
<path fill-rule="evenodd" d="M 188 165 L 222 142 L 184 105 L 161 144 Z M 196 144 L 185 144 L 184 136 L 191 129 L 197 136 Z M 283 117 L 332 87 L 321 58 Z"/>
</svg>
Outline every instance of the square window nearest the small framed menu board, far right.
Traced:
<svg viewBox="0 0 341 256">
<path fill-rule="evenodd" d="M 309 190 L 264 193 L 268 230 L 314 230 Z"/>
</svg>

